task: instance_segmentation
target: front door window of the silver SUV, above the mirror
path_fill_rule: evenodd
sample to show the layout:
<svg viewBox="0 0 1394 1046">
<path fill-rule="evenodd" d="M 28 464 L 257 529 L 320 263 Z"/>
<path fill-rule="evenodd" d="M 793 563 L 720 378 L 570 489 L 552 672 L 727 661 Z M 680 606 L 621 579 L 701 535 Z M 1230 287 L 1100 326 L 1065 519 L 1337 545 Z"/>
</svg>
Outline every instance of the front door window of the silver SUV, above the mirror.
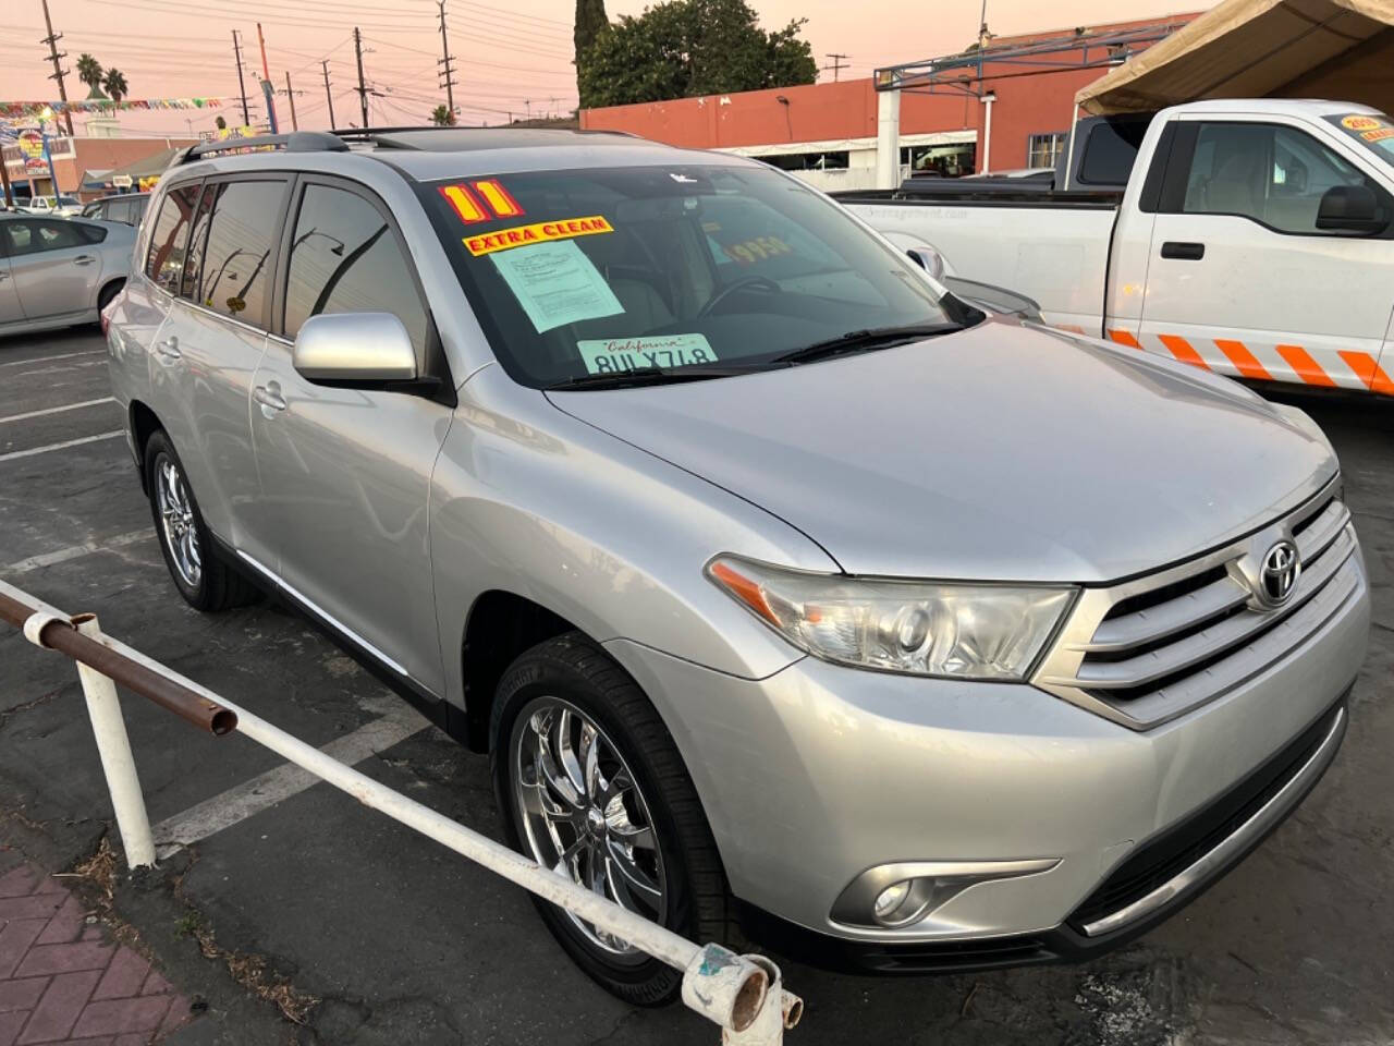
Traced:
<svg viewBox="0 0 1394 1046">
<path fill-rule="evenodd" d="M 321 312 L 392 312 L 425 358 L 427 311 L 392 227 L 362 197 L 307 185 L 286 285 L 286 336 Z"/>
</svg>

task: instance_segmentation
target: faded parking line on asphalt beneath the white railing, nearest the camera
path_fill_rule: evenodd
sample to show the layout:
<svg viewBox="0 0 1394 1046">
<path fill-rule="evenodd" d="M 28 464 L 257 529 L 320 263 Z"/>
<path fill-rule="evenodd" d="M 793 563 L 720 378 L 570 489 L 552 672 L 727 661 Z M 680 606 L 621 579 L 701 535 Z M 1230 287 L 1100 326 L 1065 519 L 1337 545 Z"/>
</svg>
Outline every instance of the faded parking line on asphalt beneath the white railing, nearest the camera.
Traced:
<svg viewBox="0 0 1394 1046">
<path fill-rule="evenodd" d="M 353 766 L 406 741 L 428 725 L 431 724 L 424 715 L 410 704 L 400 702 L 381 720 L 374 720 L 351 734 L 335 738 L 319 750 L 340 763 Z M 151 830 L 155 835 L 156 856 L 163 861 L 170 854 L 199 840 L 206 840 L 209 835 L 216 835 L 318 782 L 318 777 L 293 763 L 283 763 L 275 770 L 268 770 L 259 777 L 229 788 L 222 795 L 205 799 L 156 824 Z"/>
</svg>

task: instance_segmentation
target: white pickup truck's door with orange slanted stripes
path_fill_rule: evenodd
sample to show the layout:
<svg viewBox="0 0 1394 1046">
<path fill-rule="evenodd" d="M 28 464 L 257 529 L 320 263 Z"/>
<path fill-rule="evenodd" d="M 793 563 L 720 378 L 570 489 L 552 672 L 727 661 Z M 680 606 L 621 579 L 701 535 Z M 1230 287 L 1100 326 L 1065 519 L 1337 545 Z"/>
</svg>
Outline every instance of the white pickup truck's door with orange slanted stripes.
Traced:
<svg viewBox="0 0 1394 1046">
<path fill-rule="evenodd" d="M 1394 392 L 1379 363 L 1394 225 L 1373 237 L 1316 227 L 1334 185 L 1369 185 L 1394 218 L 1394 194 L 1361 159 L 1281 117 L 1182 117 L 1156 160 L 1167 167 L 1138 347 L 1232 377 Z"/>
</svg>

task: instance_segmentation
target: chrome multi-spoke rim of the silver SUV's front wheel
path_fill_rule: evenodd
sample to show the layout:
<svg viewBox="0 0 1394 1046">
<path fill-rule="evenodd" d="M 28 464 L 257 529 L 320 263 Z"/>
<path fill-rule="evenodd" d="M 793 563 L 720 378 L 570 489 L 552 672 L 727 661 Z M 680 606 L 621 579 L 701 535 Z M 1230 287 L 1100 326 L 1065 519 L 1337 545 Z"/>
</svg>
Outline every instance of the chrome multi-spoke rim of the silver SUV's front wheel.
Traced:
<svg viewBox="0 0 1394 1046">
<path fill-rule="evenodd" d="M 537 862 L 662 922 L 666 890 L 654 821 L 615 743 L 559 697 L 531 702 L 513 735 L 513 799 Z M 609 958 L 647 958 L 588 922 L 569 918 Z"/>
</svg>

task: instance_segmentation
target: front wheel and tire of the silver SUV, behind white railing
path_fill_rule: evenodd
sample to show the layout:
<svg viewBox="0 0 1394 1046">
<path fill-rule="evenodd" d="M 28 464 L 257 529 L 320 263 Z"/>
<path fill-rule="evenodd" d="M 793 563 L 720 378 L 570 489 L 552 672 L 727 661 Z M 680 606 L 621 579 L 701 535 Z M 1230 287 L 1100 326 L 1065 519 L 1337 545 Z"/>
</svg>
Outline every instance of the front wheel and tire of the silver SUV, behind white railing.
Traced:
<svg viewBox="0 0 1394 1046">
<path fill-rule="evenodd" d="M 493 787 L 523 854 L 698 943 L 732 936 L 726 876 L 672 735 L 633 679 L 572 632 L 519 657 L 493 704 Z M 591 978 L 662 1006 L 682 973 L 534 897 Z"/>
</svg>

